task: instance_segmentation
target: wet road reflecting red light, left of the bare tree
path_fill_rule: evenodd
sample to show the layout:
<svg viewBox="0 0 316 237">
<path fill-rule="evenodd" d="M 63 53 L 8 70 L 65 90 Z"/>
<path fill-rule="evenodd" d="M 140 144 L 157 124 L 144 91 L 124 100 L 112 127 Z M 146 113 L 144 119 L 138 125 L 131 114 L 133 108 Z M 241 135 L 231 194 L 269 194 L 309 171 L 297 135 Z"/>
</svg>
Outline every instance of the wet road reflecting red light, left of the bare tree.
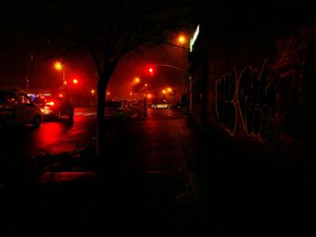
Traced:
<svg viewBox="0 0 316 237">
<path fill-rule="evenodd" d="M 38 129 L 10 127 L 0 132 L 0 184 L 19 178 L 23 168 L 41 153 L 59 153 L 78 149 L 96 135 L 93 108 L 76 108 L 74 123 L 67 118 L 45 121 Z"/>
</svg>

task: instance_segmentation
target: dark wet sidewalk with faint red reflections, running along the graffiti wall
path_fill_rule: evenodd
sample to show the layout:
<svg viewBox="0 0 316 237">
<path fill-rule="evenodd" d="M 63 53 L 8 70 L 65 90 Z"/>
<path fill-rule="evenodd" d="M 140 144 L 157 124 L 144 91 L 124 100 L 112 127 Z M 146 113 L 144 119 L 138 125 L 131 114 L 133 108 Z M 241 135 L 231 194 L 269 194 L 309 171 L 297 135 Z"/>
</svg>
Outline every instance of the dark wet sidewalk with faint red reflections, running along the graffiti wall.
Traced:
<svg viewBox="0 0 316 237">
<path fill-rule="evenodd" d="M 1 229 L 12 236 L 209 236 L 301 230 L 309 222 L 299 164 L 269 159 L 250 143 L 245 154 L 181 111 L 149 111 L 105 138 L 102 161 L 71 162 L 0 188 Z"/>
</svg>

